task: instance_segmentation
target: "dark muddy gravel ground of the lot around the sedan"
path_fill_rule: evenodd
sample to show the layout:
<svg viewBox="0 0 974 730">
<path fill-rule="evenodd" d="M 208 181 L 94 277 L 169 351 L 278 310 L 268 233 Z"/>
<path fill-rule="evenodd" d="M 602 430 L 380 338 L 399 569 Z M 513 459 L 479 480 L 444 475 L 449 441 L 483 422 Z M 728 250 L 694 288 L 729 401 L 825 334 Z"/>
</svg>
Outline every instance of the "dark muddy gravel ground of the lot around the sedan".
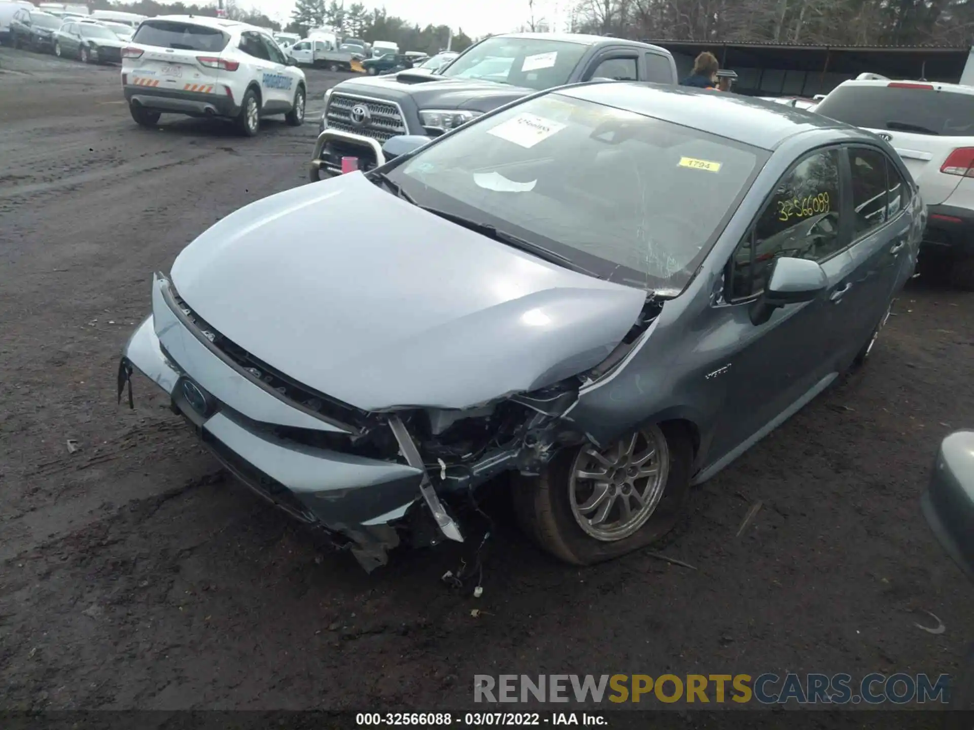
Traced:
<svg viewBox="0 0 974 730">
<path fill-rule="evenodd" d="M 310 112 L 340 78 L 309 73 Z M 0 707 L 459 709 L 474 674 L 955 671 L 974 592 L 918 496 L 974 425 L 974 296 L 912 282 L 864 371 L 696 490 L 659 548 L 693 569 L 558 564 L 502 495 L 481 599 L 439 580 L 461 548 L 366 575 L 236 485 L 150 383 L 115 402 L 150 274 L 304 184 L 316 126 L 146 130 L 120 98 L 118 68 L 0 51 Z"/>
</svg>

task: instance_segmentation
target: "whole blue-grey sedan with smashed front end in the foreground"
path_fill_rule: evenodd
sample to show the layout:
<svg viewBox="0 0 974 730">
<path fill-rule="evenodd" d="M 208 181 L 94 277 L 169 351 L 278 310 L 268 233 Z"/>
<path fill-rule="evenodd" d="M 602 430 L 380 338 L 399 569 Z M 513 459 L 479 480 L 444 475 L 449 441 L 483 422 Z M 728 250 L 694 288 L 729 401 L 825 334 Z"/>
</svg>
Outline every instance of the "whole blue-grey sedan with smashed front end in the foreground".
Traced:
<svg viewBox="0 0 974 730">
<path fill-rule="evenodd" d="M 543 548 L 592 564 L 659 538 L 691 485 L 864 362 L 925 217 L 857 128 L 682 88 L 545 91 L 221 220 L 155 274 L 119 393 L 148 376 L 367 569 L 469 537 L 502 472 Z"/>
</svg>

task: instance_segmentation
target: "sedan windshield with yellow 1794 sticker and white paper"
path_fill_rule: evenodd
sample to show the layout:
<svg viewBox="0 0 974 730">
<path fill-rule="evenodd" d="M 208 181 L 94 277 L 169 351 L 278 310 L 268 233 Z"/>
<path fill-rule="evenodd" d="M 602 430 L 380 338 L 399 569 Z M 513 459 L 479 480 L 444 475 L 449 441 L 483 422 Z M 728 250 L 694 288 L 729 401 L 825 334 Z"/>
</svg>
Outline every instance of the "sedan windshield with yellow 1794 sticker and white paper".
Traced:
<svg viewBox="0 0 974 730">
<path fill-rule="evenodd" d="M 725 137 L 550 93 L 458 129 L 387 177 L 444 217 L 675 295 L 765 160 Z"/>
</svg>

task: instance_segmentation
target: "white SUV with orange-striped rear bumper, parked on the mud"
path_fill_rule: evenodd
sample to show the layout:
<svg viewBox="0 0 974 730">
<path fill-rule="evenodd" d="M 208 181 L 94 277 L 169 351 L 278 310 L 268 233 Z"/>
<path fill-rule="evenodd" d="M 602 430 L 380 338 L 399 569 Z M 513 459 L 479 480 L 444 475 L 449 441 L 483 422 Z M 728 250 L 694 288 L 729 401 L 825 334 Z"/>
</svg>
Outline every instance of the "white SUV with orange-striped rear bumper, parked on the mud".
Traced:
<svg viewBox="0 0 974 730">
<path fill-rule="evenodd" d="M 162 113 L 228 117 L 247 136 L 260 118 L 304 123 L 307 82 L 270 33 L 220 18 L 144 20 L 122 52 L 122 89 L 132 119 L 151 127 Z"/>
</svg>

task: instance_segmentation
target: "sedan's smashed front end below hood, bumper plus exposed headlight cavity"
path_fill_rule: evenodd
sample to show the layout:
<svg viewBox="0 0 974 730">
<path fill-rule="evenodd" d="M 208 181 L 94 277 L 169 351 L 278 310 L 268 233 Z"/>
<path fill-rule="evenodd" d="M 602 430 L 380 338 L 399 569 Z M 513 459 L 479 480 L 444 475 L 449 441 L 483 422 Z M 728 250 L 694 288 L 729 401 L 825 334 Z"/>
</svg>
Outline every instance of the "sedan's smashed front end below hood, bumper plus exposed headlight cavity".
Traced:
<svg viewBox="0 0 974 730">
<path fill-rule="evenodd" d="M 537 473 L 581 439 L 560 419 L 578 397 L 578 378 L 466 411 L 370 414 L 336 410 L 337 401 L 326 408 L 314 394 L 302 400 L 300 386 L 277 385 L 241 357 L 157 274 L 153 313 L 125 347 L 120 384 L 132 369 L 147 376 L 244 485 L 325 529 L 366 569 L 386 563 L 403 529 L 429 534 L 417 525 L 424 519 L 462 541 L 451 500 L 503 471 Z M 413 544 L 436 541 L 412 536 Z"/>
</svg>

